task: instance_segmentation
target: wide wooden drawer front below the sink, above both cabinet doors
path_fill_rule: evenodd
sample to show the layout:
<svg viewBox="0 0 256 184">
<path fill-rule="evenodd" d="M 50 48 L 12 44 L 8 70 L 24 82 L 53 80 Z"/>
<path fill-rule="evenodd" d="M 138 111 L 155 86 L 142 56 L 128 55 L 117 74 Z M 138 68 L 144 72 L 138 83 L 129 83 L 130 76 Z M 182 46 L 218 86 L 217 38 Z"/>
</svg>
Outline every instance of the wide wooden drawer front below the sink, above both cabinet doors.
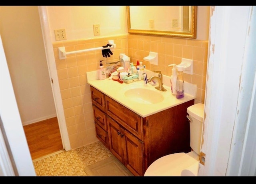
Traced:
<svg viewBox="0 0 256 184">
<path fill-rule="evenodd" d="M 116 122 L 126 128 L 126 130 L 142 140 L 142 117 L 108 96 L 105 96 L 105 100 L 108 116 L 112 117 Z"/>
</svg>

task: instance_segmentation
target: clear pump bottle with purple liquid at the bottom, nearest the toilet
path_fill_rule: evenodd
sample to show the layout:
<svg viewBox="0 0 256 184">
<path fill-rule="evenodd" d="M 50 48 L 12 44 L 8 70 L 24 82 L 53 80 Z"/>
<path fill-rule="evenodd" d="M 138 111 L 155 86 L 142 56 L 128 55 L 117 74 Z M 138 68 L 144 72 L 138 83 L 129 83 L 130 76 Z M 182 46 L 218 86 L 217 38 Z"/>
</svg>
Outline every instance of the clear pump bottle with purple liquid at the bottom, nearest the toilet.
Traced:
<svg viewBox="0 0 256 184">
<path fill-rule="evenodd" d="M 176 81 L 176 98 L 184 97 L 184 80 L 183 80 L 183 66 L 177 65 L 177 81 Z"/>
</svg>

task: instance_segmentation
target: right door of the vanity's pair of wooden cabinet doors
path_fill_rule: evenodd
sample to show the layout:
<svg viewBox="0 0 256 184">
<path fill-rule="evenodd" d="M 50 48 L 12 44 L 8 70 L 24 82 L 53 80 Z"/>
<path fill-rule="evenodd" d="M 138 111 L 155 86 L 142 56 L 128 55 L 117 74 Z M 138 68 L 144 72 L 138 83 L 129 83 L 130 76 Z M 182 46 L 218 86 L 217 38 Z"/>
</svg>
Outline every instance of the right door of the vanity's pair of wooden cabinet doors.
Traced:
<svg viewBox="0 0 256 184">
<path fill-rule="evenodd" d="M 143 142 L 127 131 L 124 135 L 124 165 L 134 176 L 143 176 Z"/>
</svg>

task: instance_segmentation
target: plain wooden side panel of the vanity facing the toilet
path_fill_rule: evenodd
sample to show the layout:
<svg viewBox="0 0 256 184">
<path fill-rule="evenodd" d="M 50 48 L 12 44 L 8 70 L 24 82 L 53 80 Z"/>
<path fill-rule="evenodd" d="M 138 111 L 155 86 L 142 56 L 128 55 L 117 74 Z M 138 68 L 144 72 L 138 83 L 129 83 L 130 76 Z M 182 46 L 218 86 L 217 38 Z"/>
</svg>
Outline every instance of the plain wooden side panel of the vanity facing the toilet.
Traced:
<svg viewBox="0 0 256 184">
<path fill-rule="evenodd" d="M 143 118 L 144 172 L 158 158 L 190 152 L 190 125 L 187 108 L 194 100 Z"/>
</svg>

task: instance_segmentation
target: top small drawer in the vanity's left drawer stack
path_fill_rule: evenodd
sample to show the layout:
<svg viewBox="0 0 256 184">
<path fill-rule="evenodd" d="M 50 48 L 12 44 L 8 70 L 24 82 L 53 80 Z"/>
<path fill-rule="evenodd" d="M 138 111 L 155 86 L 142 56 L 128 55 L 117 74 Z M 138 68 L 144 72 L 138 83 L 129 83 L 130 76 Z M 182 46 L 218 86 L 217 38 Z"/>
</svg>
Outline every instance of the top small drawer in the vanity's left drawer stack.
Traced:
<svg viewBox="0 0 256 184">
<path fill-rule="evenodd" d="M 98 108 L 100 108 L 102 111 L 105 112 L 105 109 L 106 109 L 105 100 L 104 100 L 105 95 L 92 86 L 90 86 L 90 90 L 91 90 L 92 104 L 96 105 Z"/>
</svg>

